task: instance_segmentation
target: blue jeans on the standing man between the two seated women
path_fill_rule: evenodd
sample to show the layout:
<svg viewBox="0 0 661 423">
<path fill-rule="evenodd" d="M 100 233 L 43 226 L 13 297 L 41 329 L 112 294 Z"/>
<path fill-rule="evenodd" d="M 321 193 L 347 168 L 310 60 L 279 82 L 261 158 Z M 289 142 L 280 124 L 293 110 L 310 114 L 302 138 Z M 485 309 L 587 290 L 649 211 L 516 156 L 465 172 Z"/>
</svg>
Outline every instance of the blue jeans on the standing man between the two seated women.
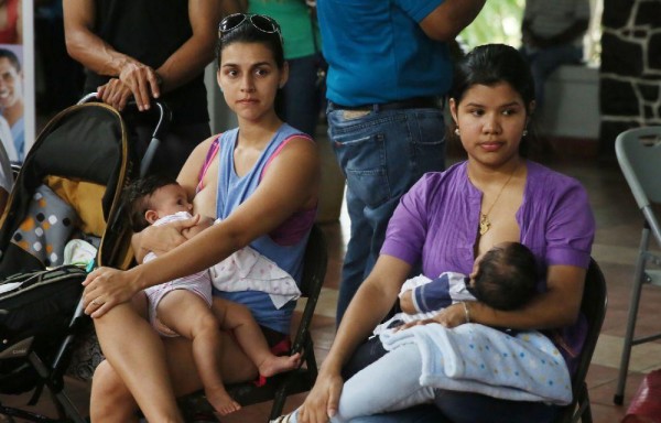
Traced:
<svg viewBox="0 0 661 423">
<path fill-rule="evenodd" d="M 351 219 L 337 323 L 369 274 L 400 197 L 425 173 L 445 166 L 441 109 L 343 110 L 327 107 L 328 138 L 347 178 Z M 323 195 L 323 193 L 322 193 Z"/>
</svg>

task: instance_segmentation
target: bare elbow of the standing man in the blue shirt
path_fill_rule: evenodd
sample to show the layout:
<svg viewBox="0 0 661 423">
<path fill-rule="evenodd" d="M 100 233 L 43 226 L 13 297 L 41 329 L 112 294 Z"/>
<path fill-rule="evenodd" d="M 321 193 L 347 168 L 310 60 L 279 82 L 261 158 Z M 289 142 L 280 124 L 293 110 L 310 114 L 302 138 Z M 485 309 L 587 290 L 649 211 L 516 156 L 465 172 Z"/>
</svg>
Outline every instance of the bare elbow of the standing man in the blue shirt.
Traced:
<svg viewBox="0 0 661 423">
<path fill-rule="evenodd" d="M 424 33 L 436 41 L 454 40 L 475 20 L 486 0 L 445 0 L 420 22 Z"/>
</svg>

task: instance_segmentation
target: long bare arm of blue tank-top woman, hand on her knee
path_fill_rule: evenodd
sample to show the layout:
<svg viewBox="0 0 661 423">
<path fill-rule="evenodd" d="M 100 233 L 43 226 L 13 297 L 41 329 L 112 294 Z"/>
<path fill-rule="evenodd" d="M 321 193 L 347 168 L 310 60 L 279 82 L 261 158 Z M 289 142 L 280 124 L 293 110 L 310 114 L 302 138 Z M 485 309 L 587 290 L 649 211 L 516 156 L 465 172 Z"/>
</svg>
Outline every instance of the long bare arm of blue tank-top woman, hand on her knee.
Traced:
<svg viewBox="0 0 661 423">
<path fill-rule="evenodd" d="M 295 164 L 294 164 L 295 163 Z M 256 192 L 230 216 L 158 259 L 127 272 L 100 268 L 85 281 L 85 305 L 104 305 L 93 317 L 128 301 L 144 288 L 192 274 L 224 260 L 271 232 L 294 212 L 316 204 L 318 155 L 308 139 L 294 139 L 278 154 Z"/>
</svg>

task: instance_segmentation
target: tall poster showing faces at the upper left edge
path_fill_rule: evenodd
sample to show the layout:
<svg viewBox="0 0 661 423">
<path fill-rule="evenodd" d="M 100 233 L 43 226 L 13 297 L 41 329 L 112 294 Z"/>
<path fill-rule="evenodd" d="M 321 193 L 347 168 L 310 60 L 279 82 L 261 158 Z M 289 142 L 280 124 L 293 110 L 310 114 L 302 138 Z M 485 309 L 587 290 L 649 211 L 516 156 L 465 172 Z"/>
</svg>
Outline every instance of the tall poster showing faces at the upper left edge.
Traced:
<svg viewBox="0 0 661 423">
<path fill-rule="evenodd" d="M 34 37 L 31 1 L 0 0 L 0 140 L 13 163 L 34 143 Z"/>
</svg>

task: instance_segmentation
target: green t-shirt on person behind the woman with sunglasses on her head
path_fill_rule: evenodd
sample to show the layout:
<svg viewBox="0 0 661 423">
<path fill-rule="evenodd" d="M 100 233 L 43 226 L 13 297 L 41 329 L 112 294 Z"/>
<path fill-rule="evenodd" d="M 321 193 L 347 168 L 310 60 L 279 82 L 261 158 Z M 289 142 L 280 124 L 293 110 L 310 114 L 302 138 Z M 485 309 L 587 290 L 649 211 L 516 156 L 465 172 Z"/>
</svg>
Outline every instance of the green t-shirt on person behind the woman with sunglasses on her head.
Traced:
<svg viewBox="0 0 661 423">
<path fill-rule="evenodd" d="M 248 12 L 273 18 L 282 29 L 284 58 L 299 58 L 314 54 L 315 42 L 321 50 L 321 35 L 303 0 L 250 0 Z"/>
</svg>

